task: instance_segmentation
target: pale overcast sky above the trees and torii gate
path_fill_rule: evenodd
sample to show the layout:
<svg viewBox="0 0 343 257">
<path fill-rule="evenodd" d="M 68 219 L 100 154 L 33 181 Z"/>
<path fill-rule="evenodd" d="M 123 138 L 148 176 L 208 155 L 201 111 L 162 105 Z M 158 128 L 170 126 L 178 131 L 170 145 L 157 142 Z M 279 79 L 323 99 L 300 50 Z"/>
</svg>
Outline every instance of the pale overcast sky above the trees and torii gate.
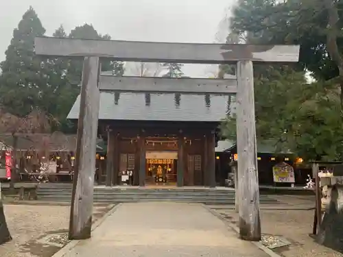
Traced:
<svg viewBox="0 0 343 257">
<path fill-rule="evenodd" d="M 0 60 L 12 32 L 32 5 L 51 36 L 62 24 L 69 32 L 91 23 L 100 34 L 118 40 L 214 42 L 226 10 L 234 0 L 0 0 Z M 190 76 L 202 76 L 204 66 L 186 66 Z"/>
</svg>

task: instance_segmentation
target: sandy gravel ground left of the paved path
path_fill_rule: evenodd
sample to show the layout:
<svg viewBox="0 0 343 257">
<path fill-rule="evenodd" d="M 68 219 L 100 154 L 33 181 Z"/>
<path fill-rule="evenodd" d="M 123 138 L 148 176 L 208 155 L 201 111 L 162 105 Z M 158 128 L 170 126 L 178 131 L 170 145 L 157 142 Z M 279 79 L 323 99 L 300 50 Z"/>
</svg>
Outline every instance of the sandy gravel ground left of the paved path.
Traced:
<svg viewBox="0 0 343 257">
<path fill-rule="evenodd" d="M 54 233 L 67 233 L 69 206 L 30 206 L 6 204 L 5 217 L 13 240 L 0 246 L 1 257 L 49 257 L 60 247 L 43 245 L 37 239 Z M 108 206 L 95 206 L 93 220 Z"/>
</svg>

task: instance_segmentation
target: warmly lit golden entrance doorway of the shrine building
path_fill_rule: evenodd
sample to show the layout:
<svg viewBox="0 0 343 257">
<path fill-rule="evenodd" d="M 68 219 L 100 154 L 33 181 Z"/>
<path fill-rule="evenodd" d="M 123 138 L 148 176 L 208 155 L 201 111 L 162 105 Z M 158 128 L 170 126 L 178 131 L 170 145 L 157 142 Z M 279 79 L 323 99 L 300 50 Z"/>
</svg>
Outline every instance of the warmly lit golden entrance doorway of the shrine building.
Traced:
<svg viewBox="0 0 343 257">
<path fill-rule="evenodd" d="M 145 183 L 147 185 L 176 186 L 177 151 L 147 151 Z"/>
</svg>

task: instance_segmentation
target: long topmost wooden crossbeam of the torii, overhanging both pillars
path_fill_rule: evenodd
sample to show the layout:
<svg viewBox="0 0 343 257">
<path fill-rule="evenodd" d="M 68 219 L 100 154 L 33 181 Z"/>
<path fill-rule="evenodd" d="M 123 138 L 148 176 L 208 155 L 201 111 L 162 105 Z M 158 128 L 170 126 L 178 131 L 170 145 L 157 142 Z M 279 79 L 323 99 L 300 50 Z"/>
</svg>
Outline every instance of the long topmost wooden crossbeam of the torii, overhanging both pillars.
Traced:
<svg viewBox="0 0 343 257">
<path fill-rule="evenodd" d="M 199 44 L 134 42 L 75 38 L 35 38 L 37 55 L 98 56 L 127 62 L 181 62 L 226 64 L 238 60 L 254 62 L 298 62 L 298 45 Z"/>
</svg>

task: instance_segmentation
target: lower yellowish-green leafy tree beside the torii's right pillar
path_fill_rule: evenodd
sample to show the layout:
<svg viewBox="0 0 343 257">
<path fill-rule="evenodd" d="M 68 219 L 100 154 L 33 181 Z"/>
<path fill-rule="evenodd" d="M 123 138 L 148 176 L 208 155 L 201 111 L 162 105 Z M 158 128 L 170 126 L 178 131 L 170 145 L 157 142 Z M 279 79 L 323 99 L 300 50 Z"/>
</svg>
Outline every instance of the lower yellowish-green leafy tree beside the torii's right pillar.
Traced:
<svg viewBox="0 0 343 257">
<path fill-rule="evenodd" d="M 340 92 L 335 84 L 307 84 L 303 72 L 270 66 L 255 74 L 257 139 L 273 139 L 279 149 L 291 149 L 306 160 L 340 159 L 343 125 Z M 235 114 L 221 125 L 226 138 L 236 140 Z"/>
</svg>

